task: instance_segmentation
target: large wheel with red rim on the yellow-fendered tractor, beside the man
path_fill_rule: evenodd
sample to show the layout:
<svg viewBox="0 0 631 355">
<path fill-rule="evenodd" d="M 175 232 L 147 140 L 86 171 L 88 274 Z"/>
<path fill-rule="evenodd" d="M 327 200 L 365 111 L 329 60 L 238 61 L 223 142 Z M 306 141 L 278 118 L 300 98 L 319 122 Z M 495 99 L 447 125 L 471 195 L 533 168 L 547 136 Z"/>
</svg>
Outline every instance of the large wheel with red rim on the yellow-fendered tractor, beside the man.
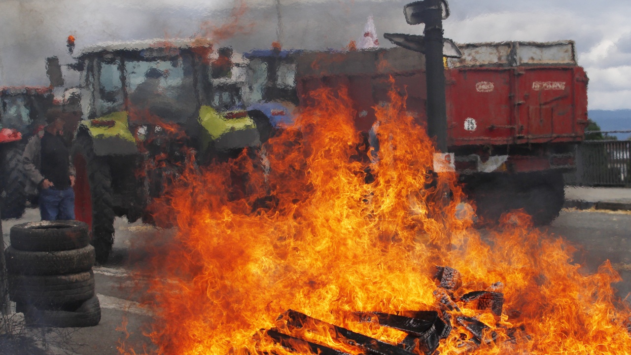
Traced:
<svg viewBox="0 0 631 355">
<path fill-rule="evenodd" d="M 105 263 L 114 244 L 114 200 L 112 176 L 105 157 L 95 154 L 90 136 L 80 134 L 72 149 L 76 181 L 74 201 L 76 219 L 91 227 L 90 243 L 97 262 Z"/>
</svg>

